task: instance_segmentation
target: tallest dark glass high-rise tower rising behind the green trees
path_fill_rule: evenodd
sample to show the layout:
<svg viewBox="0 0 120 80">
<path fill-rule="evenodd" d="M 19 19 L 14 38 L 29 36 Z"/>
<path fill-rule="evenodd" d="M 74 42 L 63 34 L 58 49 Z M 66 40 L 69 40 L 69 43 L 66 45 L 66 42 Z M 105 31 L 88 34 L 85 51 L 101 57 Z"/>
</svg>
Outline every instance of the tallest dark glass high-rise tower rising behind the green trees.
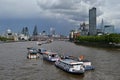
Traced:
<svg viewBox="0 0 120 80">
<path fill-rule="evenodd" d="M 96 8 L 89 10 L 89 35 L 96 35 Z"/>
</svg>

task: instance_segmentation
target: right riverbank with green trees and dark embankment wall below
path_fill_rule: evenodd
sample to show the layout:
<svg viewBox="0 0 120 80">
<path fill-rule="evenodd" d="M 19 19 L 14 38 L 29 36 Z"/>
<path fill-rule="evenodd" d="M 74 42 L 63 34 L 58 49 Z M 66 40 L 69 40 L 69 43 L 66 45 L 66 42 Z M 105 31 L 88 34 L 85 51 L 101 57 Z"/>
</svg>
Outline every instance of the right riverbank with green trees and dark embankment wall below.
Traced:
<svg viewBox="0 0 120 80">
<path fill-rule="evenodd" d="M 77 36 L 73 42 L 87 46 L 120 48 L 120 34 Z"/>
</svg>

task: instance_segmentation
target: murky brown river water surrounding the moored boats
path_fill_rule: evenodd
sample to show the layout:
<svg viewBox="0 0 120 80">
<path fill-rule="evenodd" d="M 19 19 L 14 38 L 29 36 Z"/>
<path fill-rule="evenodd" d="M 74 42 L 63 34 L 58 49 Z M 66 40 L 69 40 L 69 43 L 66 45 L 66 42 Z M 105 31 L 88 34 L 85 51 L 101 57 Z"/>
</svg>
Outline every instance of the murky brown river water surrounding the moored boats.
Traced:
<svg viewBox="0 0 120 80">
<path fill-rule="evenodd" d="M 95 66 L 94 71 L 73 75 L 44 61 L 26 58 L 27 47 L 46 48 L 61 55 L 84 55 Z M 54 41 L 38 46 L 36 42 L 0 44 L 0 80 L 120 80 L 120 49 L 76 45 L 68 41 Z"/>
</svg>

